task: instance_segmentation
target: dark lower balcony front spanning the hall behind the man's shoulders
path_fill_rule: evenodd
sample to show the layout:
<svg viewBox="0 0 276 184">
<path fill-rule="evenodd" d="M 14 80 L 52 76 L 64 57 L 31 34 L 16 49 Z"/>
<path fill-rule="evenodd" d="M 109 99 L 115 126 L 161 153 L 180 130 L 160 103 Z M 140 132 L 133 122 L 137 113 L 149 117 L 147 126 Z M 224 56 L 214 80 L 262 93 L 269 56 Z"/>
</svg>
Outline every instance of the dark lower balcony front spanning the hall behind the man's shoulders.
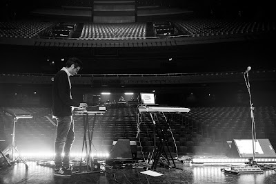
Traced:
<svg viewBox="0 0 276 184">
<path fill-rule="evenodd" d="M 72 84 L 191 84 L 202 82 L 243 82 L 242 71 L 220 73 L 164 73 L 164 74 L 80 74 L 71 78 Z M 0 73 L 0 84 L 51 84 L 54 74 L 43 73 Z M 275 80 L 275 69 L 271 71 L 252 71 L 253 81 Z"/>
</svg>

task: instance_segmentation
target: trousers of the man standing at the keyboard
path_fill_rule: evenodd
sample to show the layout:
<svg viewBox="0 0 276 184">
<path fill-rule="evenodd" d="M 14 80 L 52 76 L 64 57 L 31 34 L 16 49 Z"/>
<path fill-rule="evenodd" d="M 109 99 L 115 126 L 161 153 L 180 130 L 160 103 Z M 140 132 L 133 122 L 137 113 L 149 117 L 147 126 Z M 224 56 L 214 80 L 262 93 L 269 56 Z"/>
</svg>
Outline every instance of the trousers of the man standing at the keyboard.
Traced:
<svg viewBox="0 0 276 184">
<path fill-rule="evenodd" d="M 55 168 L 69 167 L 69 154 L 75 139 L 72 116 L 57 117 L 57 138 L 55 142 Z M 61 154 L 64 152 L 62 158 Z"/>
</svg>

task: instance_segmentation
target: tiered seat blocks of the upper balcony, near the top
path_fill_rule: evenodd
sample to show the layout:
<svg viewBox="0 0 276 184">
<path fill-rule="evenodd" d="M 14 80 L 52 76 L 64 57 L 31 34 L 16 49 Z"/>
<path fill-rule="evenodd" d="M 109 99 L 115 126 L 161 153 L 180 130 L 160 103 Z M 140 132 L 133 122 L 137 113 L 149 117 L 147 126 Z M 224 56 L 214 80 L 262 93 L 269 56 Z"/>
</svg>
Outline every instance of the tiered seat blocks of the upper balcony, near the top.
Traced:
<svg viewBox="0 0 276 184">
<path fill-rule="evenodd" d="M 215 35 L 235 35 L 244 33 L 275 32 L 273 21 L 242 21 L 239 19 L 190 19 L 172 23 L 182 35 L 205 37 Z M 31 38 L 41 35 L 54 22 L 9 21 L 0 22 L 0 37 Z M 146 22 L 137 23 L 85 23 L 79 39 L 145 39 Z"/>
</svg>

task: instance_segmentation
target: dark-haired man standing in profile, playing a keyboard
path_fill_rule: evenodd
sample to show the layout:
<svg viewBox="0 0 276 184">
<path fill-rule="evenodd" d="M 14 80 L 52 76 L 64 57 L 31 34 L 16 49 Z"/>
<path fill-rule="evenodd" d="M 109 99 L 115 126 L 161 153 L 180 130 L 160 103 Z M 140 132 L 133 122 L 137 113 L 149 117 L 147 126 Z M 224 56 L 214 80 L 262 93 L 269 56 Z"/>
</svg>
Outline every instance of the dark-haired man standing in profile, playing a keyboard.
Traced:
<svg viewBox="0 0 276 184">
<path fill-rule="evenodd" d="M 68 59 L 66 67 L 55 75 L 52 86 L 52 116 L 57 119 L 55 176 L 71 176 L 72 173 L 78 172 L 78 169 L 69 164 L 70 150 L 75 139 L 72 110 L 74 107 L 87 107 L 87 104 L 72 100 L 70 76 L 76 75 L 82 66 L 81 60 L 76 57 Z"/>
</svg>

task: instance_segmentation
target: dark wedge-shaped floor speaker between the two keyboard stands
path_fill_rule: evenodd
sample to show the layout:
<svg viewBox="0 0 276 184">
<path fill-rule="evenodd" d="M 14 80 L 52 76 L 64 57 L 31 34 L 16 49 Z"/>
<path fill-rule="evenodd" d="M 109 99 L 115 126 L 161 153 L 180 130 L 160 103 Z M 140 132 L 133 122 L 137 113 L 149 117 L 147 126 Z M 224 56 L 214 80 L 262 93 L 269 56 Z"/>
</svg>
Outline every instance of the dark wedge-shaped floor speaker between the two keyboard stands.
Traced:
<svg viewBox="0 0 276 184">
<path fill-rule="evenodd" d="M 112 147 L 109 158 L 106 158 L 107 165 L 132 163 L 130 140 L 118 139 Z"/>
</svg>

